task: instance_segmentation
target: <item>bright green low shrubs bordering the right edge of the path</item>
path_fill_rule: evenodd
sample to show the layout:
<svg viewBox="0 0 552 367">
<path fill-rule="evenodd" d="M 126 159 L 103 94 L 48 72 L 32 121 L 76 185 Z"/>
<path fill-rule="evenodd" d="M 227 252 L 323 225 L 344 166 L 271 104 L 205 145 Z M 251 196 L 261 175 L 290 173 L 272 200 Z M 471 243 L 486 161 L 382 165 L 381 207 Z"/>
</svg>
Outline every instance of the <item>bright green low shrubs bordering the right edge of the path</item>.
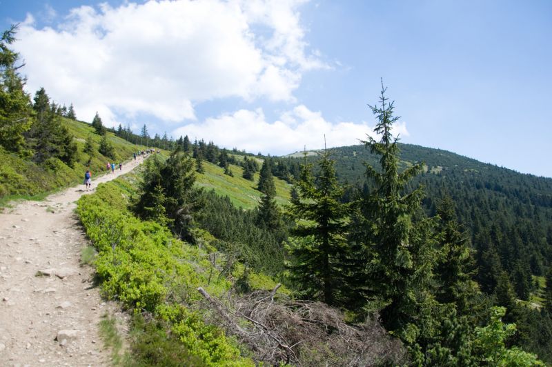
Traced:
<svg viewBox="0 0 552 367">
<path fill-rule="evenodd" d="M 77 213 L 98 250 L 95 265 L 103 294 L 170 322 L 172 333 L 190 355 L 207 366 L 252 365 L 239 357 L 239 350 L 221 330 L 181 306 L 197 299 L 197 286 L 220 294 L 228 289 L 228 282 L 198 271 L 213 266 L 199 250 L 174 239 L 159 224 L 132 217 L 120 199 L 126 184 L 116 181 L 101 184 L 95 195 L 85 195 L 77 203 Z"/>
</svg>

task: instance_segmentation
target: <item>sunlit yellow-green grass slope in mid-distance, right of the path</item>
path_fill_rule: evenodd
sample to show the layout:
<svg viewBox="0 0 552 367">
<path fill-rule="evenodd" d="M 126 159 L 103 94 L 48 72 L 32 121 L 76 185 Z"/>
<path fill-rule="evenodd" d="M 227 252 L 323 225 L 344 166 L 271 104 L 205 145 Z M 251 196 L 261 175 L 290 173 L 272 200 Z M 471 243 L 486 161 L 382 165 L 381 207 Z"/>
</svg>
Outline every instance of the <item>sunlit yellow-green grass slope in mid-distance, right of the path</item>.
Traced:
<svg viewBox="0 0 552 367">
<path fill-rule="evenodd" d="M 224 169 L 204 161 L 205 173 L 197 175 L 199 186 L 207 190 L 214 189 L 218 195 L 228 196 L 230 201 L 244 209 L 252 209 L 259 205 L 261 192 L 257 191 L 259 173 L 255 173 L 255 180 L 249 181 L 242 178 L 244 170 L 242 167 L 230 165 L 234 177 L 224 175 Z M 291 186 L 281 179 L 274 178 L 276 186 L 276 202 L 283 206 L 289 203 Z"/>
</svg>

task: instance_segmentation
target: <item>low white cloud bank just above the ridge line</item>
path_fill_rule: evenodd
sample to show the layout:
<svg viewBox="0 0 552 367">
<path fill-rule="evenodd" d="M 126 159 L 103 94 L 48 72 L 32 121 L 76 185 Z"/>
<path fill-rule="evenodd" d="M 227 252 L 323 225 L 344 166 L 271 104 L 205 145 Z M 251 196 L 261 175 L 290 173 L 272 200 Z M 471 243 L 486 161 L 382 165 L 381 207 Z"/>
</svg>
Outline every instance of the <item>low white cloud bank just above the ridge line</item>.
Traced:
<svg viewBox="0 0 552 367">
<path fill-rule="evenodd" d="M 322 117 L 322 112 L 299 105 L 272 123 L 266 121 L 261 108 L 239 110 L 201 123 L 189 123 L 174 130 L 172 135 L 215 141 L 219 146 L 237 147 L 247 152 L 285 155 L 303 150 L 304 146 L 307 149 L 324 148 L 324 135 L 328 148 L 357 144 L 358 139 L 366 138 L 366 134 L 372 136 L 372 130 L 373 127 L 366 122 L 328 122 Z M 408 136 L 404 121 L 395 124 L 393 135 Z"/>
</svg>

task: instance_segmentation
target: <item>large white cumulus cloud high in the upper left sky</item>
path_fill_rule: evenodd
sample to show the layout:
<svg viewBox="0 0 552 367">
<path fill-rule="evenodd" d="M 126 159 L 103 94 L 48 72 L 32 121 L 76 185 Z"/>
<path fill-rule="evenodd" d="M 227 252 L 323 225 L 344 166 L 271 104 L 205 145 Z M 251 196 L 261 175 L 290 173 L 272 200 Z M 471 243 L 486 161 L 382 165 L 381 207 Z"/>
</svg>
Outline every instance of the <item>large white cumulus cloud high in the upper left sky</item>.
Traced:
<svg viewBox="0 0 552 367">
<path fill-rule="evenodd" d="M 44 87 L 74 103 L 80 119 L 98 111 L 108 124 L 137 114 L 178 123 L 194 120 L 202 101 L 295 101 L 302 74 L 326 68 L 304 39 L 302 2 L 81 6 L 55 27 L 39 29 L 29 14 L 14 46 L 26 60 L 28 90 Z"/>
</svg>

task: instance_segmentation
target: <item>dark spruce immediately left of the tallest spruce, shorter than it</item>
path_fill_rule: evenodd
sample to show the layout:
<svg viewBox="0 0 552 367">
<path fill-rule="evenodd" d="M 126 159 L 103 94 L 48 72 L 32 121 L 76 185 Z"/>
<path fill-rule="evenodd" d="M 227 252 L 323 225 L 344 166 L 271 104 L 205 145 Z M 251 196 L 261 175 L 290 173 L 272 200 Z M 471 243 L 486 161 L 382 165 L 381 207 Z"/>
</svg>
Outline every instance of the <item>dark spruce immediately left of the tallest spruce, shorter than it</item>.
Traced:
<svg viewBox="0 0 552 367">
<path fill-rule="evenodd" d="M 289 268 L 308 297 L 326 304 L 339 303 L 342 288 L 339 254 L 346 249 L 348 205 L 340 201 L 343 188 L 337 184 L 334 161 L 324 151 L 318 161 L 319 173 L 305 163 L 296 183 L 297 199 L 292 199 L 290 215 L 295 219 L 290 240 Z"/>
</svg>

